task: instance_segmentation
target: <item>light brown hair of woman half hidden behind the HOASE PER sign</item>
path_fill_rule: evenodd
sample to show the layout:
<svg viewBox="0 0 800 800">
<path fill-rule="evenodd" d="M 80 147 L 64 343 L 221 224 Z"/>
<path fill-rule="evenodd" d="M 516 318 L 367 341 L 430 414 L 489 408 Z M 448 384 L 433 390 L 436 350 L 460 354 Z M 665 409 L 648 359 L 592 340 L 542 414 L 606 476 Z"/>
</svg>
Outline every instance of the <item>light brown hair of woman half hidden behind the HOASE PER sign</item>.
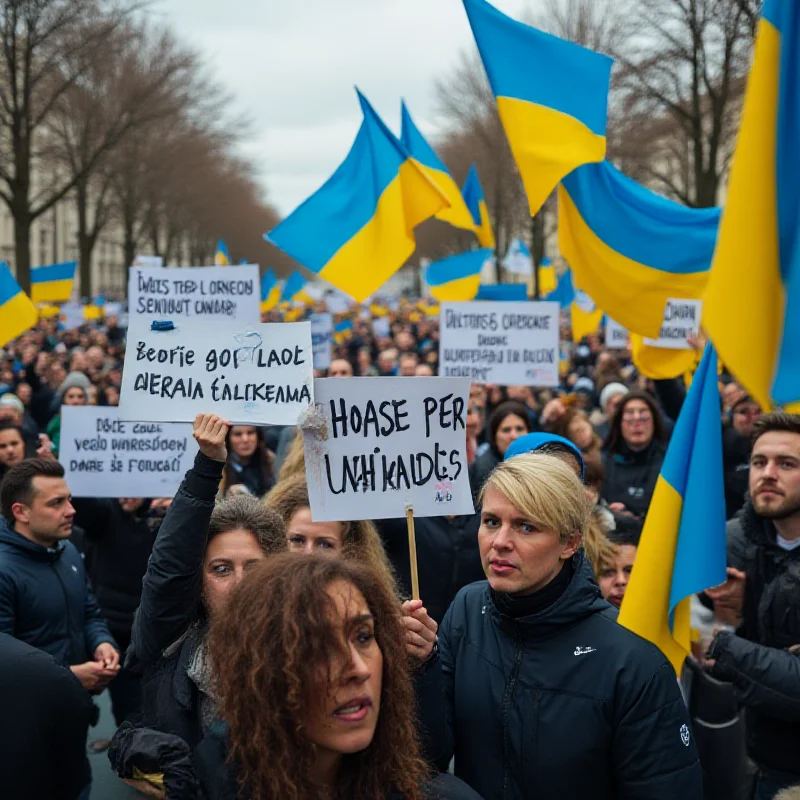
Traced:
<svg viewBox="0 0 800 800">
<path fill-rule="evenodd" d="M 277 511 L 283 519 L 288 531 L 289 523 L 295 512 L 301 508 L 309 508 L 308 483 L 304 474 L 294 475 L 278 481 L 271 492 L 264 498 L 264 505 Z M 370 567 L 380 576 L 386 589 L 397 595 L 397 581 L 394 570 L 386 557 L 381 538 L 375 526 L 369 520 L 342 523 L 342 558 L 358 561 Z"/>
</svg>

